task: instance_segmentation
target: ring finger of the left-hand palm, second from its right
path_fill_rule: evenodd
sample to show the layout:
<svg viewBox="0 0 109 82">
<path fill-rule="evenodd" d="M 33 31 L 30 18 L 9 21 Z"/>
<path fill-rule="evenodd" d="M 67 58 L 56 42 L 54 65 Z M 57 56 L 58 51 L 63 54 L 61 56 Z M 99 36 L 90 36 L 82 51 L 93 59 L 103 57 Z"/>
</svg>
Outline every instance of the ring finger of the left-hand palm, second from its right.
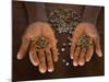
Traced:
<svg viewBox="0 0 109 82">
<path fill-rule="evenodd" d="M 53 71 L 53 62 L 52 62 L 52 57 L 51 57 L 51 52 L 49 49 L 46 50 L 46 56 L 47 56 L 48 71 L 52 72 Z"/>
</svg>

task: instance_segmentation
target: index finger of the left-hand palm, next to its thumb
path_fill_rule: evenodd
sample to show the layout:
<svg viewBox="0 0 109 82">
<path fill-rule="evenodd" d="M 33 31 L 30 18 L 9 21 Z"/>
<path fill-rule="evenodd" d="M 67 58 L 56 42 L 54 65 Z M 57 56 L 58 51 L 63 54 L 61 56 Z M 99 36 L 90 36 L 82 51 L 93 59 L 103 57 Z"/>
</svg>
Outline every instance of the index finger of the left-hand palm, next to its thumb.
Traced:
<svg viewBox="0 0 109 82">
<path fill-rule="evenodd" d="M 39 63 L 38 56 L 35 50 L 35 47 L 33 47 L 33 46 L 31 46 L 31 49 L 29 49 L 29 59 L 34 66 L 38 66 L 38 63 Z"/>
</svg>

